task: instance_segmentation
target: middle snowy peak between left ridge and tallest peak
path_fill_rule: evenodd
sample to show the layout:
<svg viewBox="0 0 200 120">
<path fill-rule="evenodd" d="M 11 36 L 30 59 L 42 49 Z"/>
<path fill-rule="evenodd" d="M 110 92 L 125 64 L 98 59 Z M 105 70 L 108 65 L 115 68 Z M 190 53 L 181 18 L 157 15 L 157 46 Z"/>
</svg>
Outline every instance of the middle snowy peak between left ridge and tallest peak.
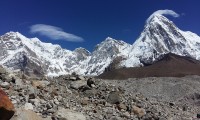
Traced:
<svg viewBox="0 0 200 120">
<path fill-rule="evenodd" d="M 103 42 L 96 45 L 91 57 L 89 57 L 89 64 L 86 69 L 87 74 L 101 74 L 114 59 L 118 57 L 127 58 L 127 54 L 129 49 L 131 49 L 131 46 L 132 45 L 122 40 L 115 40 L 111 37 L 106 38 Z"/>
</svg>

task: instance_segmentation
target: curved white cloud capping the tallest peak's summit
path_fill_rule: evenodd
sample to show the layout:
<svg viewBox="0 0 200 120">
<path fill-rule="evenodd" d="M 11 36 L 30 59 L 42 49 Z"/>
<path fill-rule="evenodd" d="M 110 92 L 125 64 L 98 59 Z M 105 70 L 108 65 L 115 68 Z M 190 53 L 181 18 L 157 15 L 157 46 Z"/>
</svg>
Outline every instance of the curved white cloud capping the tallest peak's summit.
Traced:
<svg viewBox="0 0 200 120">
<path fill-rule="evenodd" d="M 151 20 L 151 18 L 155 15 L 170 15 L 172 17 L 179 17 L 180 15 L 176 12 L 174 12 L 173 10 L 157 10 L 156 12 L 154 12 L 148 19 L 147 22 L 149 22 Z"/>
</svg>

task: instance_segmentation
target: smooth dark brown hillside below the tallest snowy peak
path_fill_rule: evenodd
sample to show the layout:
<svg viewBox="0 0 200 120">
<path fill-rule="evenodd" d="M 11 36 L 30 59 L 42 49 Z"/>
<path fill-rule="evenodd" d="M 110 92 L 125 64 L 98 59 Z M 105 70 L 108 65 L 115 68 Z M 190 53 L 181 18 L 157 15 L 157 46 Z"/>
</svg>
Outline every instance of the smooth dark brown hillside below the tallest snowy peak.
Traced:
<svg viewBox="0 0 200 120">
<path fill-rule="evenodd" d="M 98 78 L 127 79 L 143 77 L 183 77 L 186 75 L 200 75 L 200 61 L 170 53 L 152 65 L 138 68 L 116 69 L 104 72 Z"/>
</svg>

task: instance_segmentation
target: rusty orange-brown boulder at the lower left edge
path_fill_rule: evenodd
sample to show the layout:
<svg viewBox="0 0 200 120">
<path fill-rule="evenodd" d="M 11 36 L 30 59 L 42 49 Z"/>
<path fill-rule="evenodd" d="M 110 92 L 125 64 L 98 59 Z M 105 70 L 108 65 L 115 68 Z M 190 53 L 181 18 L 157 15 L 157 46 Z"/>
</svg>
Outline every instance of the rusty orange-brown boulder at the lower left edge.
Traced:
<svg viewBox="0 0 200 120">
<path fill-rule="evenodd" d="M 14 115 L 14 112 L 12 102 L 0 88 L 0 120 L 9 120 Z"/>
</svg>

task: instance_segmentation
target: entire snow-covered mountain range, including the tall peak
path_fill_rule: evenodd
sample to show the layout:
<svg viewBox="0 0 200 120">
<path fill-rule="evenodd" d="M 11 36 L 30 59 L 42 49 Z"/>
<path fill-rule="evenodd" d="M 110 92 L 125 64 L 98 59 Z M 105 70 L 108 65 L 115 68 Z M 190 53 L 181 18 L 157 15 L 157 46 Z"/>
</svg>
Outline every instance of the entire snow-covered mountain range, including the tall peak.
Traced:
<svg viewBox="0 0 200 120">
<path fill-rule="evenodd" d="M 200 37 L 159 14 L 151 15 L 133 45 L 108 37 L 92 53 L 84 48 L 70 51 L 9 32 L 0 36 L 0 48 L 0 65 L 47 76 L 100 75 L 105 70 L 153 64 L 168 53 L 200 60 Z"/>
</svg>

